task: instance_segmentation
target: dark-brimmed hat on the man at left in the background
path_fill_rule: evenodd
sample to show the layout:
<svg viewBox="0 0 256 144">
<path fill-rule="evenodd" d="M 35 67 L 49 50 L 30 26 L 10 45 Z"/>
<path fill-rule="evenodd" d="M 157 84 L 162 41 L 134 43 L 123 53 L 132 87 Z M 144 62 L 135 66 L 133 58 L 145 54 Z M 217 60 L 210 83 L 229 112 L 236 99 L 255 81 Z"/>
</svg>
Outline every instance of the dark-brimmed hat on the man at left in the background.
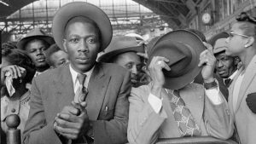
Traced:
<svg viewBox="0 0 256 144">
<path fill-rule="evenodd" d="M 26 37 L 20 39 L 20 41 L 17 43 L 18 49 L 25 49 L 26 43 L 36 38 L 44 40 L 46 43 L 49 43 L 49 45 L 55 43 L 53 37 L 48 36 L 43 30 L 35 28 L 28 32 Z"/>
</svg>

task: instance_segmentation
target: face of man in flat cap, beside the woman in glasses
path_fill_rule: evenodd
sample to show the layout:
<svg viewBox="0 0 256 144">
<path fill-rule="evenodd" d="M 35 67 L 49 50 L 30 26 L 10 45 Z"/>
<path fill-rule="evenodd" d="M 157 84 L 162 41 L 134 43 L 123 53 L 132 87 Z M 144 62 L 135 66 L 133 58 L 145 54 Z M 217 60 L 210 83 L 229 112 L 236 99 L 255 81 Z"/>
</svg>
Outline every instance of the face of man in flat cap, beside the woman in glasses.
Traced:
<svg viewBox="0 0 256 144">
<path fill-rule="evenodd" d="M 215 55 L 215 68 L 221 78 L 229 78 L 236 71 L 235 58 L 226 55 L 224 52 Z"/>
</svg>

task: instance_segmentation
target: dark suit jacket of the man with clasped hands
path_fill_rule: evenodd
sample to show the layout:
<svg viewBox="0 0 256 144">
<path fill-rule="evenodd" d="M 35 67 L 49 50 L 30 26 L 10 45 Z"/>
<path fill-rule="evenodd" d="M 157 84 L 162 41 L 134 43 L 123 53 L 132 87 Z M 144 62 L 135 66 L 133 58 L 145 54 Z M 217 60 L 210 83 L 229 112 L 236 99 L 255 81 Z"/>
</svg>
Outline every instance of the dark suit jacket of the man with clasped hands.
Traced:
<svg viewBox="0 0 256 144">
<path fill-rule="evenodd" d="M 24 142 L 60 144 L 53 130 L 55 116 L 74 98 L 69 66 L 49 70 L 34 78 Z M 93 121 L 95 143 L 125 143 L 128 123 L 130 72 L 121 66 L 96 63 L 88 85 L 87 113 Z M 62 141 L 63 142 L 63 141 Z M 81 141 L 83 142 L 83 141 Z"/>
</svg>

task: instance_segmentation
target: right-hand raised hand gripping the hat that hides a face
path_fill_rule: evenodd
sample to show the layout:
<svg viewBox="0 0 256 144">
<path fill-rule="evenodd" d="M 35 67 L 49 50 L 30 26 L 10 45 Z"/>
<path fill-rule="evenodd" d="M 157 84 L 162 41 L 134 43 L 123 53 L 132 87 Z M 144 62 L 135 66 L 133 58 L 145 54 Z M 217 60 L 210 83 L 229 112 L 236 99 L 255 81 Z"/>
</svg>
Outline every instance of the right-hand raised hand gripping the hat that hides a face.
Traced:
<svg viewBox="0 0 256 144">
<path fill-rule="evenodd" d="M 198 66 L 202 66 L 201 75 L 204 79 L 204 83 L 209 84 L 214 81 L 213 71 L 215 68 L 216 58 L 212 52 L 212 45 L 209 43 L 204 43 L 204 45 L 207 49 L 201 52 Z"/>
</svg>

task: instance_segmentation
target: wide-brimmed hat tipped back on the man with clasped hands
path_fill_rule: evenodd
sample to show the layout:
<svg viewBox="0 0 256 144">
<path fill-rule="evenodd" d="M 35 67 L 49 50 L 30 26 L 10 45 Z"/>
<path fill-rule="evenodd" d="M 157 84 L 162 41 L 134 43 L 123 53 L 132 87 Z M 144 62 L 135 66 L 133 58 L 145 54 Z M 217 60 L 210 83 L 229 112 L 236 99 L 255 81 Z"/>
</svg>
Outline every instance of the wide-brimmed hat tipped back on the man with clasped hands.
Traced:
<svg viewBox="0 0 256 144">
<path fill-rule="evenodd" d="M 108 15 L 95 5 L 85 2 L 67 3 L 56 12 L 53 19 L 52 33 L 57 45 L 61 49 L 64 49 L 63 37 L 67 22 L 78 16 L 84 16 L 96 22 L 96 25 L 101 32 L 101 50 L 106 49 L 111 41 L 113 33 Z"/>
</svg>

